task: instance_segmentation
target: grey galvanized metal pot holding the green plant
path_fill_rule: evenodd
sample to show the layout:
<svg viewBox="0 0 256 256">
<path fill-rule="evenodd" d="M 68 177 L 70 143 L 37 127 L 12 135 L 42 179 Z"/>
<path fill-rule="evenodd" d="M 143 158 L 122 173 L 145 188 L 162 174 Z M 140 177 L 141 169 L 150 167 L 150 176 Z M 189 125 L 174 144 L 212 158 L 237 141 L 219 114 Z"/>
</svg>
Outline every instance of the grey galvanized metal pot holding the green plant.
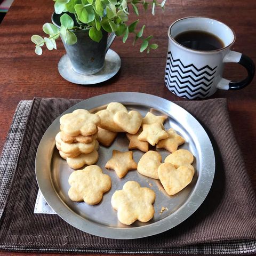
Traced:
<svg viewBox="0 0 256 256">
<path fill-rule="evenodd" d="M 52 22 L 55 26 L 60 27 L 60 17 L 62 14 L 52 14 Z M 70 14 L 69 14 L 70 15 Z M 73 17 L 74 15 L 70 15 Z M 75 17 L 73 18 L 76 24 Z M 115 39 L 115 34 L 102 30 L 102 39 L 99 43 L 89 37 L 89 30 L 73 30 L 77 36 L 77 43 L 65 46 L 68 57 L 76 73 L 82 75 L 93 75 L 98 73 L 104 66 L 105 55 L 111 43 Z"/>
</svg>

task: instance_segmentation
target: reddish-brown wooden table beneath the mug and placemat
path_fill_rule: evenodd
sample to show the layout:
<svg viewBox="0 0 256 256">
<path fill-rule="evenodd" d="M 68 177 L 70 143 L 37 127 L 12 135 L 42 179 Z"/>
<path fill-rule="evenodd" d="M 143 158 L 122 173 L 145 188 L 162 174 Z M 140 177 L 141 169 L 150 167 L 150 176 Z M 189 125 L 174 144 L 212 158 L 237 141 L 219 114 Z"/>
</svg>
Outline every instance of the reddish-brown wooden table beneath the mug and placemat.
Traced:
<svg viewBox="0 0 256 256">
<path fill-rule="evenodd" d="M 167 0 L 164 13 L 157 9 L 155 17 L 152 18 L 149 12 L 140 18 L 141 24 L 146 24 L 145 35 L 155 36 L 158 50 L 150 54 L 140 53 L 139 45 L 132 46 L 133 38 L 130 37 L 125 44 L 121 38 L 116 38 L 111 49 L 122 59 L 118 74 L 98 85 L 72 84 L 58 73 L 58 61 L 65 53 L 61 42 L 57 44 L 57 51 L 44 50 L 39 57 L 34 53 L 34 44 L 30 41 L 31 35 L 43 35 L 42 25 L 50 22 L 52 12 L 51 0 L 16 0 L 0 25 L 0 151 L 20 100 L 34 97 L 86 99 L 118 91 L 150 93 L 171 101 L 183 100 L 169 92 L 164 85 L 167 28 L 179 18 L 201 15 L 225 22 L 236 33 L 232 50 L 249 55 L 256 62 L 254 0 Z M 239 65 L 226 65 L 224 77 L 238 80 L 244 76 L 246 71 Z M 256 190 L 256 79 L 241 91 L 219 90 L 211 98 L 228 99 L 231 123 Z M 7 254 L 28 253 L 0 252 L 0 255 Z"/>
</svg>

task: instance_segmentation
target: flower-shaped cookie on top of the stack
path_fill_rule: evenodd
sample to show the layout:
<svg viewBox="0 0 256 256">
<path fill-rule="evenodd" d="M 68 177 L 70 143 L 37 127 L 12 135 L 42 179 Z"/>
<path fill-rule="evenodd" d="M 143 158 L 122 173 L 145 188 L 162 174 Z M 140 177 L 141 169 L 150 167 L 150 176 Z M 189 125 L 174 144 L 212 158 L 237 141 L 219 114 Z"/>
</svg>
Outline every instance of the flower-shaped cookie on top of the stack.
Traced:
<svg viewBox="0 0 256 256">
<path fill-rule="evenodd" d="M 85 109 L 76 109 L 73 113 L 63 115 L 60 118 L 61 130 L 70 136 L 95 134 L 99 124 L 100 117 Z"/>
</svg>

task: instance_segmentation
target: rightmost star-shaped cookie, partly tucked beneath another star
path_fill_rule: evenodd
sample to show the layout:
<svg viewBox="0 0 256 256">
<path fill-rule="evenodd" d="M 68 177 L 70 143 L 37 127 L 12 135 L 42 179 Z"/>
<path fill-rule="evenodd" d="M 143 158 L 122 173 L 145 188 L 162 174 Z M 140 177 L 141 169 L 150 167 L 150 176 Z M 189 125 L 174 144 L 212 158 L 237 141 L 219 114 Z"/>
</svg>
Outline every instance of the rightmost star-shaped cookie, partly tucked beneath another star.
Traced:
<svg viewBox="0 0 256 256">
<path fill-rule="evenodd" d="M 167 139 L 159 140 L 156 147 L 157 148 L 165 148 L 169 150 L 171 153 L 177 150 L 178 146 L 185 143 L 185 139 L 178 135 L 174 129 L 170 128 L 166 131 L 169 135 Z"/>
</svg>

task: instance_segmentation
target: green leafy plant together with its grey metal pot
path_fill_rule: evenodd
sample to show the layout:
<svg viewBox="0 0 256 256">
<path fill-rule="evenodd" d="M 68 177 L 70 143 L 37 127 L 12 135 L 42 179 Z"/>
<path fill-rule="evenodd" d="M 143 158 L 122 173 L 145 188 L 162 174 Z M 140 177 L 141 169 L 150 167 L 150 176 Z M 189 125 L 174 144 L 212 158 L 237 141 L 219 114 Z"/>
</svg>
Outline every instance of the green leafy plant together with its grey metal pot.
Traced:
<svg viewBox="0 0 256 256">
<path fill-rule="evenodd" d="M 163 9 L 166 0 L 162 3 L 157 3 L 157 0 L 53 1 L 53 23 L 43 25 L 47 37 L 31 36 L 31 41 L 35 43 L 35 53 L 41 55 L 44 44 L 48 50 L 57 49 L 55 40 L 61 37 L 72 65 L 78 73 L 82 70 L 81 73 L 86 74 L 84 70 L 89 70 L 90 65 L 93 68 L 87 74 L 97 73 L 103 67 L 106 51 L 115 36 L 122 36 L 125 43 L 129 35 L 133 34 L 133 45 L 137 41 L 141 42 L 140 52 L 146 50 L 149 53 L 151 49 L 155 50 L 158 47 L 157 44 L 151 43 L 153 36 L 143 37 L 145 25 L 138 28 L 139 19 L 129 22 L 129 11 L 133 10 L 139 16 L 139 5 L 146 11 L 148 6 L 151 6 L 151 13 L 154 15 L 155 7 L 160 6 Z M 108 33 L 111 33 L 109 39 Z"/>
</svg>

